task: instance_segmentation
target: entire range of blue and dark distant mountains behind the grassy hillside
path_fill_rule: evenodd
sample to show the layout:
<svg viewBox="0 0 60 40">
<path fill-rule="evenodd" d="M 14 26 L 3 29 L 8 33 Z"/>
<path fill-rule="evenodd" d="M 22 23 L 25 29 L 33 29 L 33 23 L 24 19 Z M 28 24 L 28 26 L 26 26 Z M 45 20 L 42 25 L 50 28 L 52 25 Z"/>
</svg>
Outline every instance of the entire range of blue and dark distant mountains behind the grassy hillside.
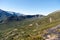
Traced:
<svg viewBox="0 0 60 40">
<path fill-rule="evenodd" d="M 36 17 L 43 17 L 43 15 L 24 15 L 21 13 L 4 11 L 0 9 L 0 23 L 8 22 L 8 21 L 21 21 L 23 19 L 28 18 L 36 18 Z"/>
</svg>

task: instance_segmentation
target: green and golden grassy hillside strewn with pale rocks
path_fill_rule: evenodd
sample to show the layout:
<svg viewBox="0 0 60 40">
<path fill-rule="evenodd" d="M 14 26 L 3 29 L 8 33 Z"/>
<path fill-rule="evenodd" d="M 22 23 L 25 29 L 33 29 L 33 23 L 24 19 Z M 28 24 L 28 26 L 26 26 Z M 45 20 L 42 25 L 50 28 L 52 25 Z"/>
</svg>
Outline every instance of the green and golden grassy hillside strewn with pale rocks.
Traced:
<svg viewBox="0 0 60 40">
<path fill-rule="evenodd" d="M 30 16 L 31 17 L 31 16 Z M 1 40 L 45 40 L 46 30 L 60 24 L 60 11 L 43 17 L 0 24 Z M 51 18 L 51 22 L 50 22 Z"/>
</svg>

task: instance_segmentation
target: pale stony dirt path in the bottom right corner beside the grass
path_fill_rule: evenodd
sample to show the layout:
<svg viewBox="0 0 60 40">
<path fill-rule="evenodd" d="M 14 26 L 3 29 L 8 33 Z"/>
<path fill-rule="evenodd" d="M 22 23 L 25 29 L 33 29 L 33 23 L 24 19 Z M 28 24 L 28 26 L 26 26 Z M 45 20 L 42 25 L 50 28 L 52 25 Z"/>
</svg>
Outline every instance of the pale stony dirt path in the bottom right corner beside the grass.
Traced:
<svg viewBox="0 0 60 40">
<path fill-rule="evenodd" d="M 60 40 L 60 25 L 47 29 L 46 31 L 47 33 L 44 34 L 46 40 Z"/>
</svg>

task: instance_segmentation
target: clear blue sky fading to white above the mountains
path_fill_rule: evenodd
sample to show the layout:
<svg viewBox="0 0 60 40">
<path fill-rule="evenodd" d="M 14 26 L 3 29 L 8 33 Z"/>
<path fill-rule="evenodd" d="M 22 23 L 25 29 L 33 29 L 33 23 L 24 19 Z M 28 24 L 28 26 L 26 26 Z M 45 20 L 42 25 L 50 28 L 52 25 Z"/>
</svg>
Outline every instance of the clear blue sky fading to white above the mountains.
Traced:
<svg viewBox="0 0 60 40">
<path fill-rule="evenodd" d="M 25 15 L 48 15 L 60 10 L 60 0 L 0 0 L 0 9 Z"/>
</svg>

